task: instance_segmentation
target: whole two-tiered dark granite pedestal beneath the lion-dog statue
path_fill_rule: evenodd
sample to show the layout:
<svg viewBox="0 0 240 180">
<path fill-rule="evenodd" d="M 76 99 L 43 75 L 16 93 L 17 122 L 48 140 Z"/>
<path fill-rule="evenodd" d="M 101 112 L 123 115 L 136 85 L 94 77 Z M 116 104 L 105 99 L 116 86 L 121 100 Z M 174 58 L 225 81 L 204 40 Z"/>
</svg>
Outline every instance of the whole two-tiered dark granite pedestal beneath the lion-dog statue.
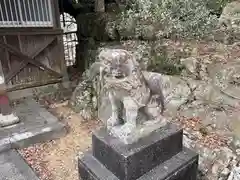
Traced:
<svg viewBox="0 0 240 180">
<path fill-rule="evenodd" d="M 82 180 L 196 180 L 198 155 L 182 145 L 182 129 L 167 124 L 133 144 L 102 128 L 79 159 Z"/>
</svg>

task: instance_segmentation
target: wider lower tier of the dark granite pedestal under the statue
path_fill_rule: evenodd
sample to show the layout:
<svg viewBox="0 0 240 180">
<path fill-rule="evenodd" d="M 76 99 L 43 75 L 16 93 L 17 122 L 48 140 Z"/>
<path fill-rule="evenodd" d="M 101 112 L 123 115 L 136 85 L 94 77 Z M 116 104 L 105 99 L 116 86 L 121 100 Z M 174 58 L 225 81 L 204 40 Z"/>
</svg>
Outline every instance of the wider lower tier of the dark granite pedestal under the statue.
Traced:
<svg viewBox="0 0 240 180">
<path fill-rule="evenodd" d="M 171 159 L 156 166 L 136 180 L 196 180 L 197 166 L 198 155 L 183 148 Z M 78 167 L 81 180 L 125 180 L 116 177 L 92 155 L 91 151 L 79 158 Z"/>
</svg>

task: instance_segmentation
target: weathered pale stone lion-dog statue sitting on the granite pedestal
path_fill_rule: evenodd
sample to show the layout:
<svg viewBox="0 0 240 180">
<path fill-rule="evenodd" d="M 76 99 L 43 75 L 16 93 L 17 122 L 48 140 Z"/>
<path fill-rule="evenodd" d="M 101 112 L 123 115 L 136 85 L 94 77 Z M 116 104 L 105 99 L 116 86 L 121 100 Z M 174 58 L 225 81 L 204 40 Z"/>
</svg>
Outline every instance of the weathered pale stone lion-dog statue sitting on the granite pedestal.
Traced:
<svg viewBox="0 0 240 180">
<path fill-rule="evenodd" d="M 107 94 L 111 104 L 107 129 L 125 144 L 133 143 L 166 124 L 162 116 L 165 106 L 161 74 L 142 71 L 128 51 L 102 50 L 99 61 L 92 64 L 89 72 L 90 80 L 100 73 L 101 92 Z M 160 119 L 149 112 L 148 105 L 153 96 L 156 96 L 157 106 L 161 105 Z"/>
</svg>

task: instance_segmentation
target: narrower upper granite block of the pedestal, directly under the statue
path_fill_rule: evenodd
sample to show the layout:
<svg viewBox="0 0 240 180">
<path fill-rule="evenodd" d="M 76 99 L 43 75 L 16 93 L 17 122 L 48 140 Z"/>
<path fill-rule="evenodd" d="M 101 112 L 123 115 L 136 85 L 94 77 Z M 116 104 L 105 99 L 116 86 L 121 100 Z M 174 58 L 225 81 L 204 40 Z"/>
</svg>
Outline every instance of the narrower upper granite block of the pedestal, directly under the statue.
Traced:
<svg viewBox="0 0 240 180">
<path fill-rule="evenodd" d="M 182 129 L 168 124 L 125 145 L 102 128 L 93 133 L 92 153 L 121 180 L 135 180 L 182 151 Z"/>
</svg>

